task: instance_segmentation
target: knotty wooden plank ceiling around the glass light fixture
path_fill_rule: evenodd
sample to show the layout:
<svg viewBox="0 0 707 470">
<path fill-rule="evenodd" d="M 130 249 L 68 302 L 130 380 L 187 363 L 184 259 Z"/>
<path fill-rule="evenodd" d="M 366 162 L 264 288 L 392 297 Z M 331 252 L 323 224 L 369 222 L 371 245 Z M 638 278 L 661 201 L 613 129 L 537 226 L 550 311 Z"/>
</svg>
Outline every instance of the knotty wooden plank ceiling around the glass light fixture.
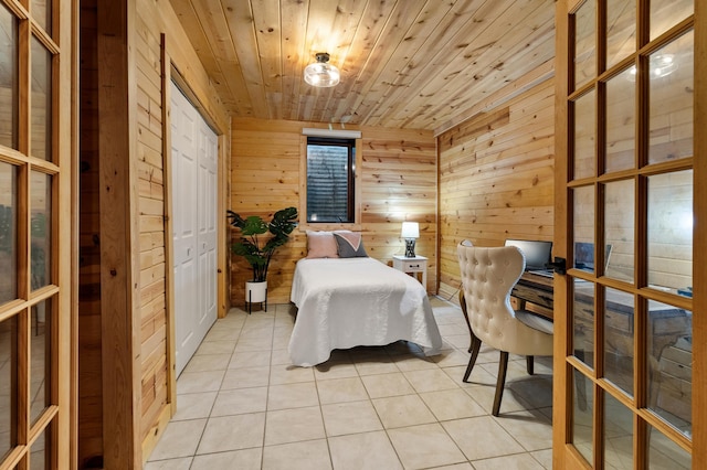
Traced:
<svg viewBox="0 0 707 470">
<path fill-rule="evenodd" d="M 440 131 L 555 55 L 553 0 L 170 1 L 234 117 Z"/>
</svg>

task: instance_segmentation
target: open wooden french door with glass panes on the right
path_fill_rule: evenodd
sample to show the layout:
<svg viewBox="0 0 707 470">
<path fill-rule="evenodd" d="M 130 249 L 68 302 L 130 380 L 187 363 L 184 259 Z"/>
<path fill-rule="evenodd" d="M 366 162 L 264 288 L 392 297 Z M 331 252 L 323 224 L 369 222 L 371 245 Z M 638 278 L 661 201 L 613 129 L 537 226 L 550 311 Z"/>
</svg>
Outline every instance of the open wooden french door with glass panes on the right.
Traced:
<svg viewBox="0 0 707 470">
<path fill-rule="evenodd" d="M 557 4 L 556 468 L 703 468 L 695 3 Z"/>
</svg>

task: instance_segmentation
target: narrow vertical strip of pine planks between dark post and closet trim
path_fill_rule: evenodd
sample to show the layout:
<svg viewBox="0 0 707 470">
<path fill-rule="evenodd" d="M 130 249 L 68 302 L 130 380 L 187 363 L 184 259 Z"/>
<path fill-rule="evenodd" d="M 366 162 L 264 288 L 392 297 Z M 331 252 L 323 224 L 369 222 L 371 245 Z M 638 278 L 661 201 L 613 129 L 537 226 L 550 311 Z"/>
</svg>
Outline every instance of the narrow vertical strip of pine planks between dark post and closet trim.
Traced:
<svg viewBox="0 0 707 470">
<path fill-rule="evenodd" d="M 149 19 L 138 14 L 136 21 L 143 441 L 168 404 L 168 351 L 161 45 Z"/>
</svg>

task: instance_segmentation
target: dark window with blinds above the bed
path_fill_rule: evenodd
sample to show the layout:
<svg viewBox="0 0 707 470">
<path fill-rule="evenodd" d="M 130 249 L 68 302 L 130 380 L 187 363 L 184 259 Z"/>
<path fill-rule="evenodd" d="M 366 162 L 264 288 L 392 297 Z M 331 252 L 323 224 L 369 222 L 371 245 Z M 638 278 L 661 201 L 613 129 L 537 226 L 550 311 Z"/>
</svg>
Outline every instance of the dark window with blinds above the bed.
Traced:
<svg viewBox="0 0 707 470">
<path fill-rule="evenodd" d="M 307 222 L 354 223 L 356 139 L 307 137 Z"/>
</svg>

